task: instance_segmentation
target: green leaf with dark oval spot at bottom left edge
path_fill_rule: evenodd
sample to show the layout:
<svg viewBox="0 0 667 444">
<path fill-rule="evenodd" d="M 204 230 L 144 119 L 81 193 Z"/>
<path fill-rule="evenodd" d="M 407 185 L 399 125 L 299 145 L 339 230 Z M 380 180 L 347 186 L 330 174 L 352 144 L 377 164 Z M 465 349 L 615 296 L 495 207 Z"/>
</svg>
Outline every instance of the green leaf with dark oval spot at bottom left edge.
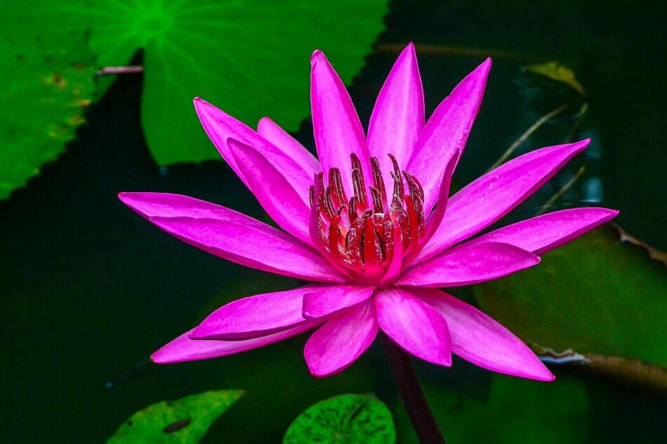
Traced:
<svg viewBox="0 0 667 444">
<path fill-rule="evenodd" d="M 149 405 L 124 422 L 107 444 L 198 443 L 242 394 L 240 390 L 205 391 Z"/>
</svg>

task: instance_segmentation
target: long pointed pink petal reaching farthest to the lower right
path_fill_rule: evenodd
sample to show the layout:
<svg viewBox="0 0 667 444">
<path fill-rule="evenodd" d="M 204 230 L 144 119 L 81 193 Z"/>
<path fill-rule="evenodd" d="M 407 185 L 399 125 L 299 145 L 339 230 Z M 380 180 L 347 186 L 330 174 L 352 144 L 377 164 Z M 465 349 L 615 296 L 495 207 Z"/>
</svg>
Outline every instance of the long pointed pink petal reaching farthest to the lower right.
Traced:
<svg viewBox="0 0 667 444">
<path fill-rule="evenodd" d="M 482 311 L 434 288 L 409 291 L 447 319 L 454 354 L 506 375 L 539 381 L 555 379 L 521 339 Z"/>
</svg>

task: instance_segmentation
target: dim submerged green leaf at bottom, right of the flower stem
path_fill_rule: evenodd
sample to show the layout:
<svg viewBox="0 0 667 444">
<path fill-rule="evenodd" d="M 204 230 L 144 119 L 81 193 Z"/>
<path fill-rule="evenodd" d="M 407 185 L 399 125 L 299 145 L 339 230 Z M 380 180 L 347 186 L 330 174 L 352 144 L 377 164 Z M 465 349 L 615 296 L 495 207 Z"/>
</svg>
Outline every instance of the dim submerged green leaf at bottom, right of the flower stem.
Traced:
<svg viewBox="0 0 667 444">
<path fill-rule="evenodd" d="M 571 377 L 545 383 L 494 375 L 486 398 L 447 384 L 423 389 L 447 444 L 586 442 L 588 397 Z M 400 442 L 418 443 L 405 410 L 397 411 Z"/>
</svg>

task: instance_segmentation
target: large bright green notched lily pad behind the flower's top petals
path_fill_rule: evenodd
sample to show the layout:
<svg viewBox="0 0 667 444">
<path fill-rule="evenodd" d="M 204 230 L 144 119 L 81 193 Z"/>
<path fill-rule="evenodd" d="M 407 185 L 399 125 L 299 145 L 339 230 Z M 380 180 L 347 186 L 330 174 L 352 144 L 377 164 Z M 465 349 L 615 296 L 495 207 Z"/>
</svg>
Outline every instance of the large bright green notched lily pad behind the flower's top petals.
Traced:
<svg viewBox="0 0 667 444">
<path fill-rule="evenodd" d="M 160 165 L 218 159 L 194 114 L 195 96 L 251 126 L 270 116 L 298 129 L 310 114 L 312 51 L 322 49 L 350 81 L 387 11 L 386 0 L 46 0 L 41 9 L 24 3 L 8 11 L 9 32 L 36 22 L 89 28 L 101 66 L 126 65 L 143 49 L 142 122 Z"/>
</svg>

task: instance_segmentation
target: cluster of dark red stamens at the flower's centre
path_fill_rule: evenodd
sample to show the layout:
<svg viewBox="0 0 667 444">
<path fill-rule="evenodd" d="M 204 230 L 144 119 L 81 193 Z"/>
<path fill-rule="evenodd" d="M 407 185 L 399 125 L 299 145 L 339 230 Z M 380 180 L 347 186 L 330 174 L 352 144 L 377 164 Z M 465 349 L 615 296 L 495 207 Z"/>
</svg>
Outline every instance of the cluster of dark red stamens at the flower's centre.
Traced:
<svg viewBox="0 0 667 444">
<path fill-rule="evenodd" d="M 373 184 L 366 188 L 359 158 L 350 157 L 354 194 L 349 200 L 338 168 L 329 170 L 326 183 L 324 173 L 315 177 L 310 187 L 310 234 L 321 243 L 320 251 L 329 262 L 354 281 L 391 283 L 404 261 L 418 253 L 424 230 L 424 191 L 414 175 L 401 172 L 391 154 L 392 195 L 385 191 L 376 157 L 369 159 Z"/>
</svg>

